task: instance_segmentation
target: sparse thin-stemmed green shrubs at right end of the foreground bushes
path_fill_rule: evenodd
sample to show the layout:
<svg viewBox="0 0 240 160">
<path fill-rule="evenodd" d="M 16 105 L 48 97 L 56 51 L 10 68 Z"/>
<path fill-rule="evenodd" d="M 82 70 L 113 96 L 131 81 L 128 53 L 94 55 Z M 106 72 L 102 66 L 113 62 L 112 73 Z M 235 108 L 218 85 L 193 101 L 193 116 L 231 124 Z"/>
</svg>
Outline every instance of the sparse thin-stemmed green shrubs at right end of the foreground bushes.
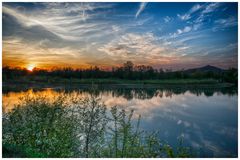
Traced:
<svg viewBox="0 0 240 160">
<path fill-rule="evenodd" d="M 112 107 L 107 145 L 103 147 L 102 157 L 118 158 L 157 158 L 157 157 L 189 157 L 188 148 L 181 145 L 177 152 L 158 138 L 158 132 L 146 133 L 140 126 L 141 116 L 133 125 L 133 113 Z M 182 142 L 182 141 L 181 141 Z M 174 155 L 175 154 L 175 155 Z"/>
</svg>

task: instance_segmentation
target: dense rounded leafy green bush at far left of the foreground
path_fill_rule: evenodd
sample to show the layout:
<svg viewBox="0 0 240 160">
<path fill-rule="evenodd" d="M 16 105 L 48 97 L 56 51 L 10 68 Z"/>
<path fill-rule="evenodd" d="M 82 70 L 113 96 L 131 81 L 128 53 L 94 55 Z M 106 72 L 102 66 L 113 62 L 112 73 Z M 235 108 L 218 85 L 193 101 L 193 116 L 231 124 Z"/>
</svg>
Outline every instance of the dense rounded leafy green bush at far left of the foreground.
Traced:
<svg viewBox="0 0 240 160">
<path fill-rule="evenodd" d="M 32 148 L 48 157 L 73 156 L 73 123 L 62 97 L 26 96 L 3 118 L 3 142 Z"/>
</svg>

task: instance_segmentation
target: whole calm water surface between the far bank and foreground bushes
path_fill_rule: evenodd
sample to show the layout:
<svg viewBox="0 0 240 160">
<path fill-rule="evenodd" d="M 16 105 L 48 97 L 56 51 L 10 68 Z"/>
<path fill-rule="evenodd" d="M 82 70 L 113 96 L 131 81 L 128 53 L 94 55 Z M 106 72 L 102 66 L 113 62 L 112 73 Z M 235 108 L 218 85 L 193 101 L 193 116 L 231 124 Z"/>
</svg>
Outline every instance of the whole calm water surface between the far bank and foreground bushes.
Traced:
<svg viewBox="0 0 240 160">
<path fill-rule="evenodd" d="M 3 112 L 9 112 L 25 94 L 71 97 L 94 94 L 107 106 L 134 109 L 141 114 L 141 127 L 160 132 L 160 138 L 176 146 L 177 137 L 191 146 L 198 157 L 236 157 L 238 95 L 236 89 L 41 89 L 3 93 Z"/>
</svg>

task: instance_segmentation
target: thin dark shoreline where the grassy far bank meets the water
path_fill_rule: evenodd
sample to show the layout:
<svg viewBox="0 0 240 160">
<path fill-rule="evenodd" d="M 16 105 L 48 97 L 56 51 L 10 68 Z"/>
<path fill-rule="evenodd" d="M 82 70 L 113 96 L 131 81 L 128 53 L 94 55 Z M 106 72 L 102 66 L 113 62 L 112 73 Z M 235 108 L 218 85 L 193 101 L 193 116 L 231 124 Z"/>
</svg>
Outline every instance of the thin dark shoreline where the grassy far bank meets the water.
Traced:
<svg viewBox="0 0 240 160">
<path fill-rule="evenodd" d="M 224 88 L 237 88 L 232 83 L 12 83 L 3 82 L 2 92 L 23 91 L 28 89 L 42 90 L 73 90 L 73 89 L 224 89 Z"/>
</svg>

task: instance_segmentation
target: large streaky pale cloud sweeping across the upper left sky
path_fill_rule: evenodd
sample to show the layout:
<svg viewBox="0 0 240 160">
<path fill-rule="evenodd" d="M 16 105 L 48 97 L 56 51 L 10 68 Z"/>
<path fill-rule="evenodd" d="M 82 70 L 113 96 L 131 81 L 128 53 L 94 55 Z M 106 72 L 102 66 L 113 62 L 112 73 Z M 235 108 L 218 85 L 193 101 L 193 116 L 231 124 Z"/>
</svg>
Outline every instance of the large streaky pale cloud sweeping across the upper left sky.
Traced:
<svg viewBox="0 0 240 160">
<path fill-rule="evenodd" d="M 89 3 L 49 3 L 40 11 L 41 13 L 39 11 L 31 12 L 31 14 L 21 13 L 8 6 L 3 6 L 3 13 L 15 17 L 25 27 L 42 26 L 62 39 L 76 41 L 86 33 L 106 29 L 106 25 L 102 23 L 87 23 L 86 21 L 96 17 L 95 14 L 89 13 L 90 11 L 109 7 L 110 5 Z"/>
</svg>

